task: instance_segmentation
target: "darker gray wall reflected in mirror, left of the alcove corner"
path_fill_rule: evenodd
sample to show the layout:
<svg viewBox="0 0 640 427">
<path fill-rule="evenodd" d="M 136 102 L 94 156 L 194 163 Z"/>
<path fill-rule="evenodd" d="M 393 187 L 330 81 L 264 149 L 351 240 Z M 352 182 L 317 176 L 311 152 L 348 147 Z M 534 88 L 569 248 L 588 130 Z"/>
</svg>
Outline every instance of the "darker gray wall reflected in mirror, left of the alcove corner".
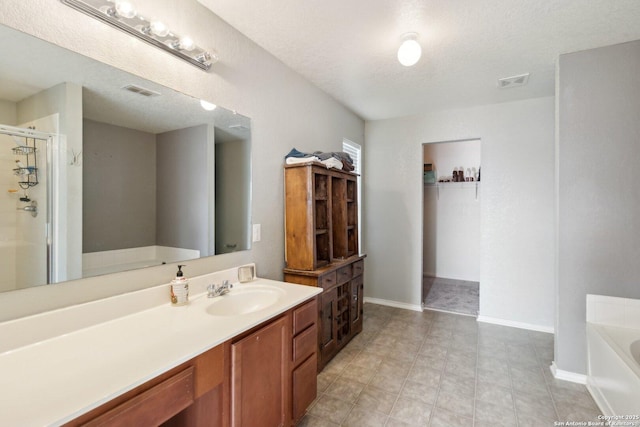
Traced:
<svg viewBox="0 0 640 427">
<path fill-rule="evenodd" d="M 156 136 L 83 123 L 83 252 L 155 245 Z"/>
</svg>

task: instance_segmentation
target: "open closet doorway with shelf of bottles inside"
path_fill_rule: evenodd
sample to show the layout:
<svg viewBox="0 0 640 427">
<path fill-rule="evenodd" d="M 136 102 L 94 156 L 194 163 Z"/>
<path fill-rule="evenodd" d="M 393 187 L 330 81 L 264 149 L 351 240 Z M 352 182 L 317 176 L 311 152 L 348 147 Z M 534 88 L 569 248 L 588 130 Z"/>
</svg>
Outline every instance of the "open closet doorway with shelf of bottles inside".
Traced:
<svg viewBox="0 0 640 427">
<path fill-rule="evenodd" d="M 479 139 L 423 144 L 422 306 L 477 316 Z"/>
</svg>

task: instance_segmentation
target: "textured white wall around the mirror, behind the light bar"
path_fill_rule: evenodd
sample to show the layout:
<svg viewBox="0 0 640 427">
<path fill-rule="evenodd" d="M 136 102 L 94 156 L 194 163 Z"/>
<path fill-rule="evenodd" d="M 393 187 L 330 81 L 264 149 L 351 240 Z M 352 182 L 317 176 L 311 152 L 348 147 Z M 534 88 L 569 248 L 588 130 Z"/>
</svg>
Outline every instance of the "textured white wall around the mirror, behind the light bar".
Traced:
<svg viewBox="0 0 640 427">
<path fill-rule="evenodd" d="M 339 151 L 344 137 L 363 144 L 364 122 L 195 1 L 138 0 L 136 7 L 216 50 L 220 62 L 203 72 L 59 1 L 3 0 L 0 23 L 251 117 L 252 219 L 262 240 L 250 251 L 190 261 L 186 274 L 255 261 L 260 276 L 282 278 L 284 155 L 292 146 Z M 0 320 L 167 283 L 174 273 L 167 265 L 5 293 Z"/>
</svg>

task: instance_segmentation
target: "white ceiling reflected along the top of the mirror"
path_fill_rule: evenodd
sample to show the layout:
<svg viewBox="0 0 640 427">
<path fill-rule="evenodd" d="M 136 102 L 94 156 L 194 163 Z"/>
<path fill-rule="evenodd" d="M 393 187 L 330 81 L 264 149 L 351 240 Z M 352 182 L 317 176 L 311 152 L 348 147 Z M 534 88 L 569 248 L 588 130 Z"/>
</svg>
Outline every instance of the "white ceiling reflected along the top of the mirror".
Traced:
<svg viewBox="0 0 640 427">
<path fill-rule="evenodd" d="M 83 117 L 88 119 L 150 133 L 213 123 L 218 130 L 224 129 L 216 137 L 243 139 L 248 135 L 247 117 L 220 107 L 205 111 L 198 99 L 3 25 L 0 52 L 0 100 L 21 101 L 71 82 L 83 88 Z M 130 84 L 160 96 L 144 97 L 122 89 Z"/>
</svg>

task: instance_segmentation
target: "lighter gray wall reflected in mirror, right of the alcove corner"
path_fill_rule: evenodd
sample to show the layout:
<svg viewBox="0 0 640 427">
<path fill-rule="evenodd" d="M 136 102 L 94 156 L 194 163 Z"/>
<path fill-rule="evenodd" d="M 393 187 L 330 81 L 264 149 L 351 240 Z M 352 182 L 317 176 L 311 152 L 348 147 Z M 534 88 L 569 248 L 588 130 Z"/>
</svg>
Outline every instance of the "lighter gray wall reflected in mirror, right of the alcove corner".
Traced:
<svg viewBox="0 0 640 427">
<path fill-rule="evenodd" d="M 209 126 L 157 135 L 157 243 L 209 253 Z"/>
</svg>

